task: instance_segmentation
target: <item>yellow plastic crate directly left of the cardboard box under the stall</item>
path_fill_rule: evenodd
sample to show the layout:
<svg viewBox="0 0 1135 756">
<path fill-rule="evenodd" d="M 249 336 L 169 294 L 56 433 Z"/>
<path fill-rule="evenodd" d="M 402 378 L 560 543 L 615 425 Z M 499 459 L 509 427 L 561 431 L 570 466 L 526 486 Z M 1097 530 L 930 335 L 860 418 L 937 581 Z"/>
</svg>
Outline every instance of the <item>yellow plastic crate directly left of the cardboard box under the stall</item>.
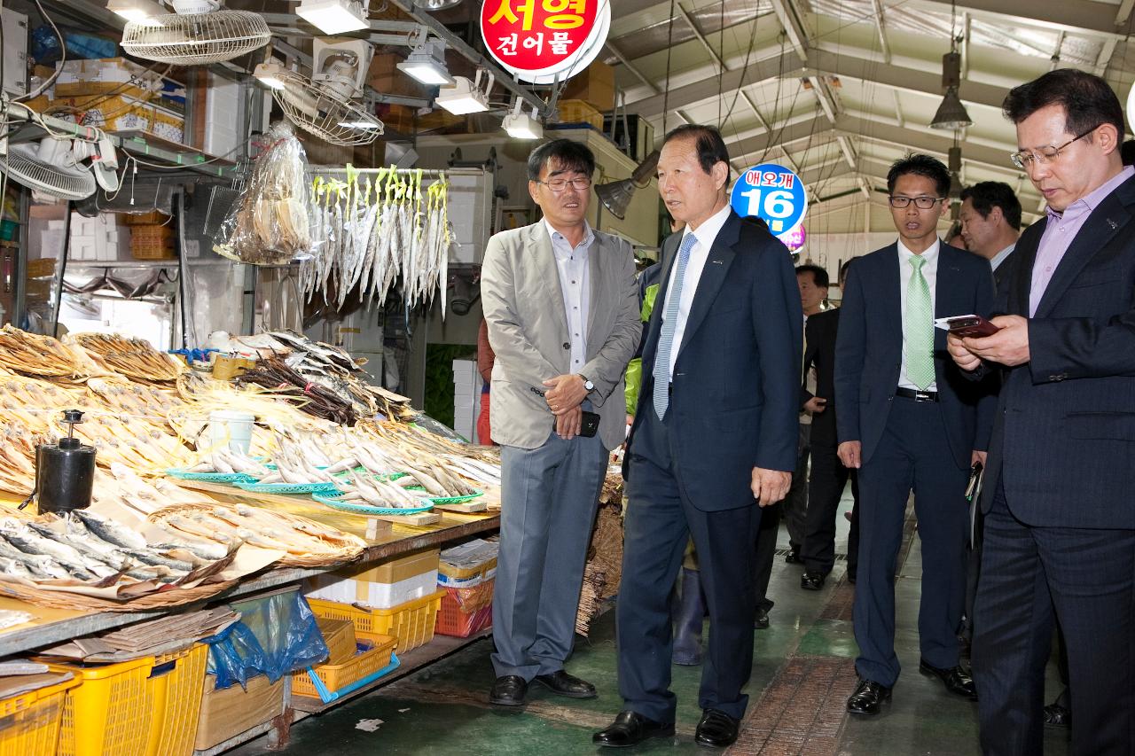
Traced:
<svg viewBox="0 0 1135 756">
<path fill-rule="evenodd" d="M 201 714 L 209 647 L 83 667 L 67 695 L 60 756 L 190 756 Z"/>
</svg>

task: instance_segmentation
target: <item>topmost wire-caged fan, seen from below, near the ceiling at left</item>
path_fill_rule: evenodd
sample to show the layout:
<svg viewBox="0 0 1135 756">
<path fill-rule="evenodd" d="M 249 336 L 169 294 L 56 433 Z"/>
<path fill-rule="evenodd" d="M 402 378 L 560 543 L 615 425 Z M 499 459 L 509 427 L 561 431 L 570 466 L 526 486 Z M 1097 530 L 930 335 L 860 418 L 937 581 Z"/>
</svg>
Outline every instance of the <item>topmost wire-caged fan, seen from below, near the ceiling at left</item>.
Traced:
<svg viewBox="0 0 1135 756">
<path fill-rule="evenodd" d="M 178 66 L 204 66 L 239 58 L 271 40 L 263 16 L 219 10 L 220 0 L 167 0 L 176 12 L 129 22 L 123 50 Z"/>
</svg>

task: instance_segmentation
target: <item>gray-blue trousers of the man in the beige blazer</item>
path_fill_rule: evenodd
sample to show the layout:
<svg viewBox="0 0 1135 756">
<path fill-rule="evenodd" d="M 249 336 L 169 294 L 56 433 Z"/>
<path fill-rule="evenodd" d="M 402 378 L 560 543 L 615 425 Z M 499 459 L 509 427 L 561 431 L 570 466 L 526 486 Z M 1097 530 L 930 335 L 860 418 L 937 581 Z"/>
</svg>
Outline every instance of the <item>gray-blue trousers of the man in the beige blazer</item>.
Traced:
<svg viewBox="0 0 1135 756">
<path fill-rule="evenodd" d="M 552 432 L 532 450 L 501 447 L 501 553 L 493 595 L 493 669 L 531 681 L 563 669 L 606 472 L 598 437 Z"/>
</svg>

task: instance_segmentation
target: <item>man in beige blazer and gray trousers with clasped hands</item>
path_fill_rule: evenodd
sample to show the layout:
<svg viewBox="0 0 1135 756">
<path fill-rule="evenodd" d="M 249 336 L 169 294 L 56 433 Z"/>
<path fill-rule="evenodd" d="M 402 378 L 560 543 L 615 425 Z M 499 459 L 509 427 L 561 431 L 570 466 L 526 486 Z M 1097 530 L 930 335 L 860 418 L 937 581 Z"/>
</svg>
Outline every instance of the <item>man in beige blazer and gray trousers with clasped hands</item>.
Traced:
<svg viewBox="0 0 1135 756">
<path fill-rule="evenodd" d="M 630 244 L 586 220 L 594 173 L 586 145 L 533 150 L 528 191 L 544 220 L 493 236 L 481 269 L 502 464 L 489 702 L 502 706 L 522 705 L 533 679 L 562 696 L 596 695 L 564 661 L 607 453 L 625 436 L 623 371 L 641 324 Z"/>
</svg>

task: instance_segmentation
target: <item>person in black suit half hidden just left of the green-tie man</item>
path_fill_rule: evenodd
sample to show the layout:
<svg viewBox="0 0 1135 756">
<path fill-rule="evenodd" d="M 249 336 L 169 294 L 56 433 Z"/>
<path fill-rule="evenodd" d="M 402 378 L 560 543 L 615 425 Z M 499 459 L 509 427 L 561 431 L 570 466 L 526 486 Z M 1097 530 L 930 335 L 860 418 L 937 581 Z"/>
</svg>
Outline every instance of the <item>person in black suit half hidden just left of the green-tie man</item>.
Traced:
<svg viewBox="0 0 1135 756">
<path fill-rule="evenodd" d="M 848 260 L 840 267 L 840 291 L 847 291 Z M 808 317 L 804 326 L 804 371 L 816 369 L 816 390 L 805 390 L 812 415 L 812 474 L 808 478 L 808 515 L 805 522 L 804 574 L 800 587 L 819 590 L 835 564 L 835 513 L 840 498 L 851 479 L 851 495 L 859 502 L 859 484 L 855 470 L 843 467 L 836 451 L 835 434 L 835 336 L 839 333 L 840 309 L 834 308 Z M 856 523 L 858 524 L 858 522 Z M 848 576 L 855 580 L 858 528 L 848 537 Z"/>
</svg>

